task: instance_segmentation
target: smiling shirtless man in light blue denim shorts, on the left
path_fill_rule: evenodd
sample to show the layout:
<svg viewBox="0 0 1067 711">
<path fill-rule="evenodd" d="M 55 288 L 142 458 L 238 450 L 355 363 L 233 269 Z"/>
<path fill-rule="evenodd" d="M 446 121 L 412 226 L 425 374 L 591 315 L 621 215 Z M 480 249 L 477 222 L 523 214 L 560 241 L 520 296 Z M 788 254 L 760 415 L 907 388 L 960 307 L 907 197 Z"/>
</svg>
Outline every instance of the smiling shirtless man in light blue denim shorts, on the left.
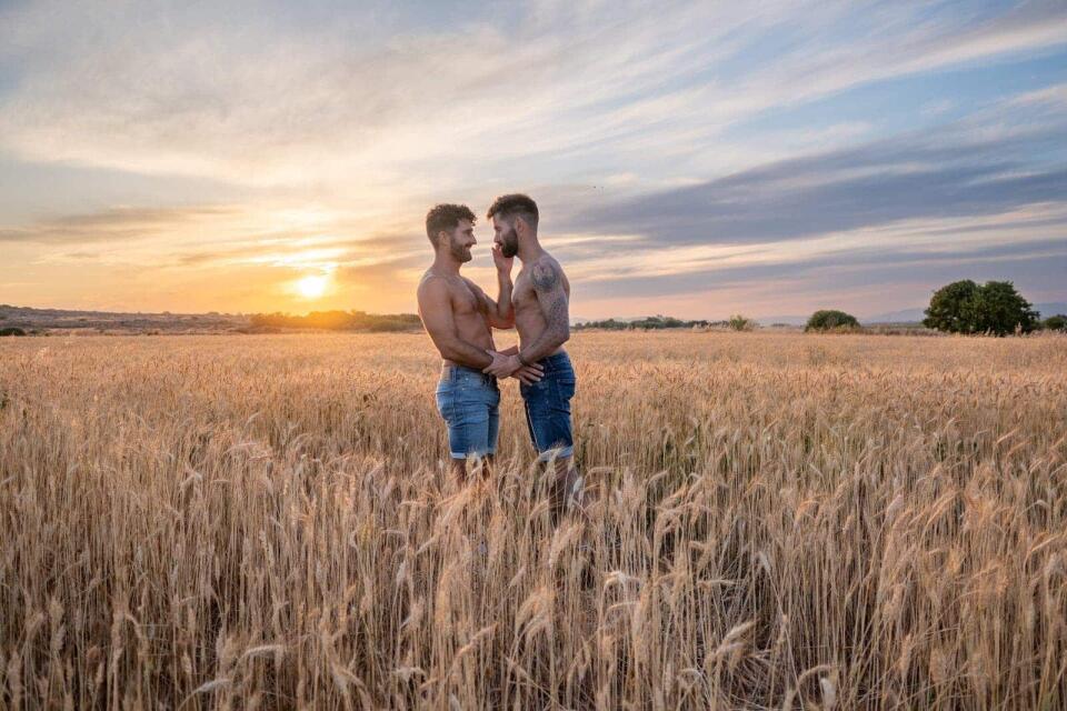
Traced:
<svg viewBox="0 0 1067 711">
<path fill-rule="evenodd" d="M 468 457 L 485 458 L 486 470 L 497 450 L 500 422 L 500 390 L 497 378 L 486 368 L 503 370 L 507 352 L 497 353 L 492 328 L 515 324 L 511 307 L 511 257 L 492 249 L 497 266 L 497 300 L 478 284 L 460 277 L 459 268 L 471 259 L 475 213 L 462 204 L 439 204 L 426 216 L 426 236 L 433 246 L 433 264 L 419 281 L 419 317 L 443 363 L 437 385 L 437 407 L 448 425 L 448 449 L 452 473 L 467 479 Z M 515 350 L 515 349 L 512 349 Z M 507 375 L 532 384 L 541 375 L 539 365 L 508 369 Z"/>
</svg>

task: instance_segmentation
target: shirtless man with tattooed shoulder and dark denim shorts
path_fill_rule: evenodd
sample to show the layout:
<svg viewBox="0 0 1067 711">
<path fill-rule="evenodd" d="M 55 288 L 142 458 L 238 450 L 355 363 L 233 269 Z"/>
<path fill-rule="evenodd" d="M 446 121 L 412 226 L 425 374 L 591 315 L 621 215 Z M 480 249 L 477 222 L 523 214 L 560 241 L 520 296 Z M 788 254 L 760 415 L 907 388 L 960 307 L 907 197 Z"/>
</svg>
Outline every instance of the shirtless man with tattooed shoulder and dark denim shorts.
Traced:
<svg viewBox="0 0 1067 711">
<path fill-rule="evenodd" d="M 544 377 L 522 382 L 519 390 L 526 405 L 526 423 L 538 459 L 555 460 L 552 510 L 558 517 L 579 495 L 580 480 L 572 464 L 575 438 L 570 422 L 570 399 L 575 394 L 575 370 L 564 343 L 570 338 L 568 301 L 570 282 L 551 254 L 537 239 L 537 203 L 523 194 L 497 198 L 489 208 L 493 229 L 493 256 L 518 256 L 522 269 L 509 294 L 513 321 L 519 331 L 519 351 L 502 361 L 493 360 L 486 373 L 498 378 L 539 365 Z M 501 291 L 500 299 L 505 298 Z M 503 356 L 503 354 L 498 354 Z"/>
</svg>

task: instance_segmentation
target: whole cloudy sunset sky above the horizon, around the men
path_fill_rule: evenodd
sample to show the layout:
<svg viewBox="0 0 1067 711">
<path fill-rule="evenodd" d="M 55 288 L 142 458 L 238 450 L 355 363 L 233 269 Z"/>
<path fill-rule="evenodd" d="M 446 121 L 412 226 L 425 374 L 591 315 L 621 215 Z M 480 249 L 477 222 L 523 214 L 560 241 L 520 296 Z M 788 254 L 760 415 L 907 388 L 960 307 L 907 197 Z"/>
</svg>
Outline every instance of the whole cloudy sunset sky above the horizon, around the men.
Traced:
<svg viewBox="0 0 1067 711">
<path fill-rule="evenodd" d="M 572 317 L 1067 301 L 1067 3 L 0 0 L 0 302 L 411 312 L 508 192 Z"/>
</svg>

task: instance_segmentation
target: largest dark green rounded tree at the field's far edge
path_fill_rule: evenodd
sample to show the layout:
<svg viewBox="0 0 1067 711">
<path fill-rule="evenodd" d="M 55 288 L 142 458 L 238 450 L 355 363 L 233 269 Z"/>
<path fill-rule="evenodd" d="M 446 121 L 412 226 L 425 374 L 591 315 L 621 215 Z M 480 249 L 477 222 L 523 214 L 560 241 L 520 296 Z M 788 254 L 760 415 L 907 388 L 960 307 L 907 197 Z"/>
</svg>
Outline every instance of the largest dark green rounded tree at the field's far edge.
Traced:
<svg viewBox="0 0 1067 711">
<path fill-rule="evenodd" d="M 1037 312 L 1010 281 L 983 286 L 966 279 L 934 292 L 923 324 L 951 333 L 1024 333 L 1037 327 Z"/>
</svg>

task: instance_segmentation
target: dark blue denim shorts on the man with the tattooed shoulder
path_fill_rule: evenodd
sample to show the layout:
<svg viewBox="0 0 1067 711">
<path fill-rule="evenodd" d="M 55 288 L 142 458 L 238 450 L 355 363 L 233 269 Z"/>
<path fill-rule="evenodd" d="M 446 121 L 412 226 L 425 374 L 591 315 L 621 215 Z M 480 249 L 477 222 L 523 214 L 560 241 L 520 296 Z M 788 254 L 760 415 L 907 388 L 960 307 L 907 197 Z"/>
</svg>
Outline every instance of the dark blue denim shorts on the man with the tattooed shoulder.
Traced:
<svg viewBox="0 0 1067 711">
<path fill-rule="evenodd" d="M 526 404 L 526 424 L 537 449 L 538 459 L 575 453 L 575 435 L 570 425 L 570 399 L 575 397 L 575 369 L 567 353 L 556 353 L 538 361 L 545 377 L 532 385 L 520 384 Z"/>
</svg>

